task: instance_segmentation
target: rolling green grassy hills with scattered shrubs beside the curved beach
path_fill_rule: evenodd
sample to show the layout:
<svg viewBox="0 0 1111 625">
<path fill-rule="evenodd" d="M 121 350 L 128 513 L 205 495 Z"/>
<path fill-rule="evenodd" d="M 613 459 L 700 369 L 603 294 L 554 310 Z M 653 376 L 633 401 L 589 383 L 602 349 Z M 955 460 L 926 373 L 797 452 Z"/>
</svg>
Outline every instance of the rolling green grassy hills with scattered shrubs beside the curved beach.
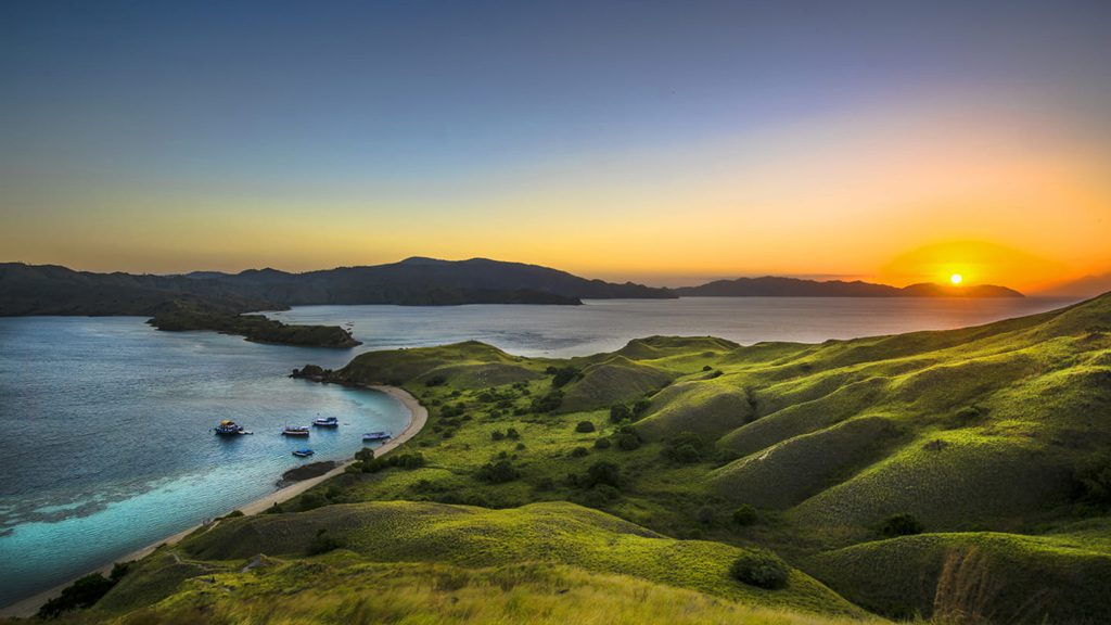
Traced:
<svg viewBox="0 0 1111 625">
<path fill-rule="evenodd" d="M 179 558 L 229 575 L 258 553 L 304 567 L 318 560 L 299 554 L 324 528 L 342 545 L 324 560 L 367 575 L 408 562 L 481 579 L 543 562 L 568 579 L 619 575 L 627 588 L 793 614 L 774 618 L 859 615 L 845 599 L 939 623 L 1111 613 L 1111 296 L 821 345 L 651 337 L 552 360 L 464 343 L 364 354 L 328 379 L 417 395 L 430 419 L 399 452 L 410 458 L 366 458 L 283 514 L 221 522 Z M 792 566 L 784 588 L 729 576 L 755 547 Z M 202 593 L 196 572 L 140 592 L 180 566 L 159 557 L 103 599 L 144 597 L 112 614 L 164 596 L 159 614 L 202 595 L 240 609 Z M 297 587 L 323 588 L 339 566 Z M 276 592 L 251 596 L 261 606 Z"/>
</svg>

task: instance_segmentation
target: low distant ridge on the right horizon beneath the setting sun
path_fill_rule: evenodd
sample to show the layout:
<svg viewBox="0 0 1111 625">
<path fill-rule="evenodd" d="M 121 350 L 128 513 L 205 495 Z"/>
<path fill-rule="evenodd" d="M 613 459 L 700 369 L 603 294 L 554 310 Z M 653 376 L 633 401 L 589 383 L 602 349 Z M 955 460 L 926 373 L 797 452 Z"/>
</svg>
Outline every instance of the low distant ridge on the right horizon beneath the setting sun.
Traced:
<svg viewBox="0 0 1111 625">
<path fill-rule="evenodd" d="M 1023 297 L 1014 289 L 994 285 L 950 287 L 921 282 L 899 288 L 860 280 L 818 281 L 775 276 L 714 280 L 672 292 L 680 297 Z"/>
</svg>

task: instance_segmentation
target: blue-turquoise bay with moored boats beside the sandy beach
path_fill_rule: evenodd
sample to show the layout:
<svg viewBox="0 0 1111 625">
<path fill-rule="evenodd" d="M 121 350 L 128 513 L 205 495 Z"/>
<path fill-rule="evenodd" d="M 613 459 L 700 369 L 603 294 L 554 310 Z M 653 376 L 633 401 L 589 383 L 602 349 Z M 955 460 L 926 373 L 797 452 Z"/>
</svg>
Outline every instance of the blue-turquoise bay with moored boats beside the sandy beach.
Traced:
<svg viewBox="0 0 1111 625">
<path fill-rule="evenodd" d="M 384 394 L 286 377 L 349 353 L 159 333 L 139 318 L 0 319 L 0 605 L 273 492 L 306 462 L 296 448 L 349 458 L 361 433 L 409 419 Z M 318 414 L 341 426 L 308 443 L 279 435 Z M 222 418 L 254 435 L 217 437 Z"/>
</svg>

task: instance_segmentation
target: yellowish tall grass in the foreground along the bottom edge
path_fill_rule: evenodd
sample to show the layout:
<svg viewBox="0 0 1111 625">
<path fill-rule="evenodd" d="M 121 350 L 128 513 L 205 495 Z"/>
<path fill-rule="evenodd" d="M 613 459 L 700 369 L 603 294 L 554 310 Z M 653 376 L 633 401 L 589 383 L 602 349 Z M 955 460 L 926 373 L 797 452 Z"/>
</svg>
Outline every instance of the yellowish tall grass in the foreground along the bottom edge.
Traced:
<svg viewBox="0 0 1111 625">
<path fill-rule="evenodd" d="M 118 621 L 147 624 L 730 624 L 883 623 L 750 607 L 620 575 L 563 566 L 464 569 L 426 564 L 317 564 L 192 581 L 184 592 Z M 320 571 L 327 568 L 327 572 Z M 311 582 L 308 582 L 311 579 Z M 300 583 L 299 583 L 300 582 Z M 308 585 L 306 584 L 308 582 Z M 327 589 L 327 591 L 326 591 Z"/>
</svg>

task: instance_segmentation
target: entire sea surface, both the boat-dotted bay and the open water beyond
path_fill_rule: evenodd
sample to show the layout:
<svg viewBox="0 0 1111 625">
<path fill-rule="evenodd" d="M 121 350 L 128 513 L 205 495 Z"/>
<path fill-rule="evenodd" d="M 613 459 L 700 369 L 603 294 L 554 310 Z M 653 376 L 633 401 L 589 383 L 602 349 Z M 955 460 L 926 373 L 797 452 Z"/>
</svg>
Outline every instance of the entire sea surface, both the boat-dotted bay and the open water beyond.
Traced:
<svg viewBox="0 0 1111 625">
<path fill-rule="evenodd" d="M 0 318 L 0 606 L 273 492 L 303 460 L 343 459 L 362 431 L 400 431 L 393 398 L 294 380 L 371 349 L 477 339 L 526 356 L 618 349 L 651 335 L 817 343 L 983 324 L 1049 299 L 689 298 L 584 306 L 308 306 L 287 323 L 351 324 L 364 345 L 330 350 L 161 333 L 140 317 Z M 336 431 L 279 435 L 336 416 Z M 231 418 L 253 436 L 219 438 Z"/>
</svg>

